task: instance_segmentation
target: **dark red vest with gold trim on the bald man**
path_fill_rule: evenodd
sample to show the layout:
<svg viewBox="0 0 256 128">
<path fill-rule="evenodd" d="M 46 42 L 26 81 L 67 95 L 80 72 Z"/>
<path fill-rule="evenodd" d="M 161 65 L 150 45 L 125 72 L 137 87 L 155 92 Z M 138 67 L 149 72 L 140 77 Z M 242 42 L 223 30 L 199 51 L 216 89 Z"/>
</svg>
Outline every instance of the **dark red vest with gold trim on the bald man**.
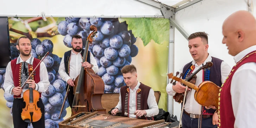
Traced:
<svg viewBox="0 0 256 128">
<path fill-rule="evenodd" d="M 235 116 L 232 108 L 231 94 L 230 94 L 230 86 L 231 80 L 236 72 L 236 70 L 243 64 L 248 62 L 256 63 L 256 51 L 248 53 L 243 59 L 236 63 L 233 66 L 229 76 L 226 81 L 222 85 L 220 89 L 220 98 L 219 98 L 219 120 L 218 127 L 219 128 L 233 128 L 235 124 Z"/>
</svg>

